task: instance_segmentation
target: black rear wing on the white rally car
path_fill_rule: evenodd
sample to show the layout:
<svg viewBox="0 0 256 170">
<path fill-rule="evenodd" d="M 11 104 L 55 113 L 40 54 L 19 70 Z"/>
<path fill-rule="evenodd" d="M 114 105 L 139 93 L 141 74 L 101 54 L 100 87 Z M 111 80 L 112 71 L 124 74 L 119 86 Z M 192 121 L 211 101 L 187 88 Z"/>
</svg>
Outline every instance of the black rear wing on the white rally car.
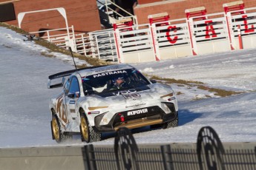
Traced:
<svg viewBox="0 0 256 170">
<path fill-rule="evenodd" d="M 104 65 L 96 66 L 96 67 L 104 67 Z M 96 68 L 96 67 L 86 67 L 86 68 L 82 68 L 82 69 L 93 69 L 93 68 Z M 67 77 L 69 75 L 72 75 L 73 72 L 77 72 L 77 71 L 80 71 L 82 69 L 71 69 L 71 70 L 68 70 L 68 71 L 65 71 L 65 72 L 58 72 L 54 75 L 49 75 L 48 84 L 47 84 L 48 89 L 53 89 L 53 88 L 56 88 L 56 87 L 63 86 L 63 84 L 65 82 L 65 77 Z M 61 83 L 59 83 L 59 81 L 58 81 L 58 83 L 52 82 L 52 80 L 57 79 L 57 78 L 62 78 Z"/>
</svg>

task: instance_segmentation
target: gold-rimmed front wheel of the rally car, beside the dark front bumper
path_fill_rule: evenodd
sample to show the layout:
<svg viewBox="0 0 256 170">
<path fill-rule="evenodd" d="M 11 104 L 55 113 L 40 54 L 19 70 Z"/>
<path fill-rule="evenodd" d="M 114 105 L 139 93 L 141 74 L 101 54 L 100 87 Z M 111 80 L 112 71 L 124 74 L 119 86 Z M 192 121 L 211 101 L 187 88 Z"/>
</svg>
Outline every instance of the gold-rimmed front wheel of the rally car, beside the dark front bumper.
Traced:
<svg viewBox="0 0 256 170">
<path fill-rule="evenodd" d="M 85 113 L 81 114 L 80 120 L 80 132 L 82 142 L 91 143 L 102 140 L 102 134 L 96 133 L 93 130 L 90 123 L 88 123 L 88 119 L 86 118 Z"/>
</svg>

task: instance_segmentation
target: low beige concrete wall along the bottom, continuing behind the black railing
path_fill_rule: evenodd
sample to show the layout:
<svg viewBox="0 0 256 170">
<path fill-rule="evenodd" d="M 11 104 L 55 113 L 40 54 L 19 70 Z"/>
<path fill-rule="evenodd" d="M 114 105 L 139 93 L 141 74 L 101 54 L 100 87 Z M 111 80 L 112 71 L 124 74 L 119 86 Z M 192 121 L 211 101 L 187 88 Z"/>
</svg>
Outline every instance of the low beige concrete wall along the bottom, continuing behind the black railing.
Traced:
<svg viewBox="0 0 256 170">
<path fill-rule="evenodd" d="M 162 150 L 163 146 L 165 148 L 170 146 L 170 153 L 166 149 Z M 229 167 L 232 167 L 231 169 L 255 169 L 255 146 L 256 143 L 223 143 L 226 152 L 226 158 L 223 157 L 223 161 L 226 169 Z M 156 169 L 155 166 L 157 169 L 164 169 L 164 165 L 172 162 L 167 163 L 163 158 L 166 155 L 163 156 L 163 154 L 171 154 L 171 159 L 174 161 L 173 169 L 199 169 L 196 143 L 143 144 L 138 145 L 138 148 L 137 157 L 140 158 L 137 161 L 140 169 Z M 93 150 L 88 151 L 85 152 L 83 146 L 0 149 L 0 165 L 4 170 L 82 170 L 95 166 L 97 169 L 116 169 L 114 145 L 95 145 Z M 92 153 L 94 153 L 93 157 L 88 155 Z"/>
</svg>

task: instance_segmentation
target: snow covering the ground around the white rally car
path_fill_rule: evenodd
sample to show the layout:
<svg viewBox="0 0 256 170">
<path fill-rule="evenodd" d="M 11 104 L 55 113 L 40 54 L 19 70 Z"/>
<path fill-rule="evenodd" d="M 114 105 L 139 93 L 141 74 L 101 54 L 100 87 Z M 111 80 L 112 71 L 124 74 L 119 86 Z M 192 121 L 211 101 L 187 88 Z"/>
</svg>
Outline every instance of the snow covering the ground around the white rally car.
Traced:
<svg viewBox="0 0 256 170">
<path fill-rule="evenodd" d="M 47 77 L 74 69 L 72 58 L 60 53 L 47 58 L 41 55 L 47 49 L 23 38 L 0 27 L 0 148 L 84 145 L 79 136 L 57 144 L 50 134 L 48 101 L 61 89 L 47 89 Z M 256 142 L 255 53 L 240 50 L 133 64 L 149 75 L 201 81 L 211 87 L 243 92 L 220 98 L 213 92 L 173 84 L 175 92 L 181 92 L 177 95 L 179 126 L 134 129 L 137 143 L 196 143 L 202 126 L 212 126 L 223 142 Z M 114 144 L 114 133 L 103 136 L 104 140 L 93 144 Z"/>
</svg>

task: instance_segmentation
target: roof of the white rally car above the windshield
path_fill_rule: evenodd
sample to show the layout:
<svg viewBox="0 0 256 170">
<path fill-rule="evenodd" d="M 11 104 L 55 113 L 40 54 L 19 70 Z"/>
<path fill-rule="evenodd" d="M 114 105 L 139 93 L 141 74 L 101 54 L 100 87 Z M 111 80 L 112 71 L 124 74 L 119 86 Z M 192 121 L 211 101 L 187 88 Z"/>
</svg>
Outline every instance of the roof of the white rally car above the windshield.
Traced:
<svg viewBox="0 0 256 170">
<path fill-rule="evenodd" d="M 77 71 L 81 77 L 86 77 L 88 75 L 95 75 L 101 72 L 111 72 L 120 69 L 134 69 L 129 64 L 115 64 L 115 65 L 108 65 L 108 66 L 101 66 L 101 67 L 88 67 L 86 69 L 81 69 Z"/>
</svg>

